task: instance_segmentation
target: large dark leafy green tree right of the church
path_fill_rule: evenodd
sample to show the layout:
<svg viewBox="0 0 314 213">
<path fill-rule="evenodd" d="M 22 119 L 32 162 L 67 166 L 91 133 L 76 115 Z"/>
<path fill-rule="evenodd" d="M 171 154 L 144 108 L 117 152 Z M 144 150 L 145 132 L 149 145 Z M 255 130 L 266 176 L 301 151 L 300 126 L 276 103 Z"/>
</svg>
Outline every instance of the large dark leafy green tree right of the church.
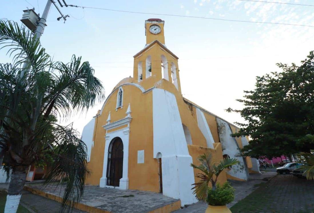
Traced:
<svg viewBox="0 0 314 213">
<path fill-rule="evenodd" d="M 244 91 L 244 104 L 238 112 L 245 119 L 233 137 L 249 136 L 245 155 L 260 158 L 289 156 L 310 152 L 314 142 L 306 134 L 314 133 L 314 54 L 301 65 L 277 64 L 282 72 L 272 72 L 256 78 L 256 88 Z"/>
</svg>

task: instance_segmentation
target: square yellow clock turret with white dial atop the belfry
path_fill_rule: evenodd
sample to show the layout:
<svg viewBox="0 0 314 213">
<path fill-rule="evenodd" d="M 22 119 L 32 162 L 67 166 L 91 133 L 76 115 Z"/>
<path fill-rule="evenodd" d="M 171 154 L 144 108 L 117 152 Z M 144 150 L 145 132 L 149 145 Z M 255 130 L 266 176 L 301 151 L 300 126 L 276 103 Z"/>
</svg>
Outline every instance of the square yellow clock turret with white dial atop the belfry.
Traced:
<svg viewBox="0 0 314 213">
<path fill-rule="evenodd" d="M 165 21 L 159 18 L 149 18 L 145 21 L 146 44 L 155 40 L 165 44 L 164 25 Z"/>
</svg>

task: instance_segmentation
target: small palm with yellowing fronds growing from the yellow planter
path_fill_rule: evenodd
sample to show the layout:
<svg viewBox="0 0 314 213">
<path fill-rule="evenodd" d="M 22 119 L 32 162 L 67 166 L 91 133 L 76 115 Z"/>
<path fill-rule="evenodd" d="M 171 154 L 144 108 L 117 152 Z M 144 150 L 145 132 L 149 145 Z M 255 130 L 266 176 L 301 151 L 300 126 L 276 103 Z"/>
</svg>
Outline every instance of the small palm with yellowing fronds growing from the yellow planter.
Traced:
<svg viewBox="0 0 314 213">
<path fill-rule="evenodd" d="M 204 153 L 203 155 L 198 156 L 198 166 L 191 164 L 195 169 L 201 170 L 202 173 L 198 173 L 196 177 L 201 180 L 198 183 L 194 183 L 192 188 L 193 194 L 196 195 L 198 200 L 206 201 L 207 192 L 208 192 L 208 183 L 212 184 L 212 190 L 216 190 L 216 183 L 218 180 L 219 174 L 228 167 L 238 164 L 239 161 L 236 158 L 224 158 L 219 163 L 214 161 L 211 153 Z"/>
</svg>

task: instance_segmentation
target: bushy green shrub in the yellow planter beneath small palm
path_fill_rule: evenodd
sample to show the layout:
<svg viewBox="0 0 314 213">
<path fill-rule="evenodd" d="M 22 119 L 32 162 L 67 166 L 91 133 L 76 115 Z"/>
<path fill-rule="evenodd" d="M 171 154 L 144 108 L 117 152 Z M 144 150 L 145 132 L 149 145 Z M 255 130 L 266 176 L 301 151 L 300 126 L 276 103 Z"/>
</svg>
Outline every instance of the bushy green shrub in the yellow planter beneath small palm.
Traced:
<svg viewBox="0 0 314 213">
<path fill-rule="evenodd" d="M 208 189 L 206 201 L 209 205 L 226 205 L 234 200 L 234 193 L 235 189 L 229 182 L 225 182 L 222 186 L 217 184 L 216 190 Z"/>
</svg>

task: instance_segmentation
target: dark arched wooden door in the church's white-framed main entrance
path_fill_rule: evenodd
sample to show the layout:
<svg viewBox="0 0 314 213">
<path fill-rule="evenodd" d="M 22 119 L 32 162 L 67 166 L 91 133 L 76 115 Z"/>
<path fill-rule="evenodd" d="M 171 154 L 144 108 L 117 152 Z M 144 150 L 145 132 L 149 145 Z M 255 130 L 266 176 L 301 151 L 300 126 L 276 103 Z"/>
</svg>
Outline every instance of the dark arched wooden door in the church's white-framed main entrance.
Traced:
<svg viewBox="0 0 314 213">
<path fill-rule="evenodd" d="M 123 143 L 121 138 L 114 138 L 109 145 L 107 164 L 107 185 L 119 186 L 122 178 Z"/>
</svg>

